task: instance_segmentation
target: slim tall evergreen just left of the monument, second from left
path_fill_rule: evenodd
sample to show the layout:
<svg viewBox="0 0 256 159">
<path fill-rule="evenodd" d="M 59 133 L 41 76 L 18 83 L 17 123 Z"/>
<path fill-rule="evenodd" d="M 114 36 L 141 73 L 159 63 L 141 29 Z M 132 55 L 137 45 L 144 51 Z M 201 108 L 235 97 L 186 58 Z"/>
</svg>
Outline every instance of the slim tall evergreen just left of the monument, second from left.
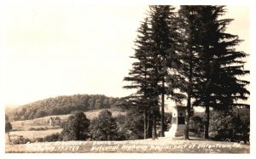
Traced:
<svg viewBox="0 0 256 159">
<path fill-rule="evenodd" d="M 175 8 L 169 5 L 153 5 L 149 9 L 152 52 L 155 60 L 155 72 L 157 72 L 155 75 L 159 84 L 158 94 L 160 95 L 160 136 L 164 136 L 166 78 L 171 77 L 169 68 L 172 69 L 177 62 L 177 17 L 174 12 Z M 168 85 L 173 85 L 171 80 L 168 81 Z M 173 89 L 169 89 L 168 92 L 170 91 L 173 92 Z"/>
</svg>

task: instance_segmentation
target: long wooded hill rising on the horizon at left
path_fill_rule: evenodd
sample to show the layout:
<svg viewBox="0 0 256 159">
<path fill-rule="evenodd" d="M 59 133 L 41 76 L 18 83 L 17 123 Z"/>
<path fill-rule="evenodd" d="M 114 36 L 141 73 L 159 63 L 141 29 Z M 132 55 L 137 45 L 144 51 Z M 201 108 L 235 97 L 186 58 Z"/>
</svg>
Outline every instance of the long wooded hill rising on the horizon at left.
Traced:
<svg viewBox="0 0 256 159">
<path fill-rule="evenodd" d="M 6 112 L 10 121 L 35 119 L 44 116 L 70 114 L 72 111 L 90 111 L 116 108 L 124 101 L 102 94 L 62 95 L 21 105 Z"/>
</svg>

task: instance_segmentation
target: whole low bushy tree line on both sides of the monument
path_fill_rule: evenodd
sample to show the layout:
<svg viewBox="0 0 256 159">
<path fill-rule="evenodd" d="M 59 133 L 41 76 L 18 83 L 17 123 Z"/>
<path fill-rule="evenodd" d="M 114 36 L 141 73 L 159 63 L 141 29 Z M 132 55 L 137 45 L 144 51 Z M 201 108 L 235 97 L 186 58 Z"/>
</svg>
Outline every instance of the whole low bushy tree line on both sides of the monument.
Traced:
<svg viewBox="0 0 256 159">
<path fill-rule="evenodd" d="M 172 115 L 165 114 L 165 128 Z M 12 131 L 8 116 L 5 116 L 5 133 Z M 189 122 L 189 131 L 197 137 L 203 136 L 204 118 L 202 112 L 195 112 Z M 234 108 L 230 112 L 212 111 L 210 116 L 211 139 L 246 143 L 249 141 L 250 112 L 247 109 Z M 159 123 L 158 123 L 159 125 Z M 27 142 L 52 142 L 68 140 L 131 140 L 143 139 L 143 116 L 136 110 L 126 111 L 125 115 L 112 116 L 111 111 L 102 110 L 98 116 L 89 120 L 84 111 L 73 111 L 67 121 L 61 122 L 61 133 L 53 133 L 44 138 L 10 139 L 11 144 Z M 167 129 L 167 128 L 166 128 Z"/>
</svg>

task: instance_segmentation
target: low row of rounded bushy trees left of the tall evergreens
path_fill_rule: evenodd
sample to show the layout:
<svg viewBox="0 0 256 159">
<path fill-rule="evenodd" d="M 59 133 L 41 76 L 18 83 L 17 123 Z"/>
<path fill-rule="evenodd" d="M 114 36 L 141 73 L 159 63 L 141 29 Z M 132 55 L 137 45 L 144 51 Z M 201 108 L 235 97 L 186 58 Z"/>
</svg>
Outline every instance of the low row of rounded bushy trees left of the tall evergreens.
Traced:
<svg viewBox="0 0 256 159">
<path fill-rule="evenodd" d="M 6 116 L 8 118 L 8 116 Z M 84 111 L 73 111 L 67 121 L 61 122 L 61 133 L 53 133 L 44 138 L 27 139 L 20 136 L 10 139 L 10 144 L 26 144 L 27 142 L 52 142 L 70 140 L 130 140 L 143 139 L 143 117 L 136 111 L 126 111 L 125 115 L 112 116 L 112 112 L 102 109 L 98 116 L 91 120 Z M 5 133 L 12 131 L 6 120 Z"/>
</svg>

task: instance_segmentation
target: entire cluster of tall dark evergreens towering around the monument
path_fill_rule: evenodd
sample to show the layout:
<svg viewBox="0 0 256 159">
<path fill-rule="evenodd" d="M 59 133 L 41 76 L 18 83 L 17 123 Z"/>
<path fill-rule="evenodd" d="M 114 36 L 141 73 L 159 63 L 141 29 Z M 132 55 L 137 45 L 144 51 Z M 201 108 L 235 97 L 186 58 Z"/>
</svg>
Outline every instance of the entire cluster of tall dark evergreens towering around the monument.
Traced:
<svg viewBox="0 0 256 159">
<path fill-rule="evenodd" d="M 131 109 L 143 114 L 144 139 L 164 136 L 166 97 L 186 106 L 185 139 L 194 106 L 205 108 L 204 137 L 209 138 L 210 110 L 231 112 L 234 107 L 249 109 L 249 82 L 242 77 L 247 54 L 236 50 L 242 42 L 226 32 L 232 19 L 221 19 L 225 6 L 149 6 L 137 30 L 135 54 L 128 82 L 135 94 L 125 99 Z"/>
</svg>

